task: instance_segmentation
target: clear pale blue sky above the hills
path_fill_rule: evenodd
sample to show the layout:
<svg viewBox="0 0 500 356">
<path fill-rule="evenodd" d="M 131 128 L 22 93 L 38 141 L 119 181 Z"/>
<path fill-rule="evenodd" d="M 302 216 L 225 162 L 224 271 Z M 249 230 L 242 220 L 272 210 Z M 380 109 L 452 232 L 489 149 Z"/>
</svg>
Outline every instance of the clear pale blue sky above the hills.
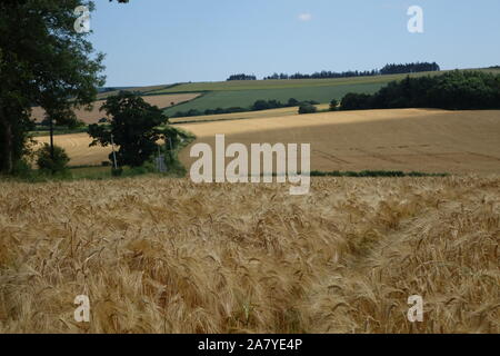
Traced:
<svg viewBox="0 0 500 356">
<path fill-rule="evenodd" d="M 217 81 L 246 72 L 500 65 L 499 0 L 96 0 L 90 40 L 107 86 Z M 410 6 L 423 33 L 410 33 Z"/>
</svg>

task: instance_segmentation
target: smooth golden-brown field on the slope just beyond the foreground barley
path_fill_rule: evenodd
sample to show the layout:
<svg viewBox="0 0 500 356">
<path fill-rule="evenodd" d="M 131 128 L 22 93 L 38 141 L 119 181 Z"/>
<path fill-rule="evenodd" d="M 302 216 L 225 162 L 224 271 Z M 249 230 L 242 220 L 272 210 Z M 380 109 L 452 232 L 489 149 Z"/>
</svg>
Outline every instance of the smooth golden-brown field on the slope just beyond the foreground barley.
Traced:
<svg viewBox="0 0 500 356">
<path fill-rule="evenodd" d="M 341 111 L 179 127 L 197 135 L 196 142 L 211 145 L 217 134 L 226 134 L 227 144 L 311 144 L 313 170 L 500 174 L 500 111 L 494 110 Z M 89 150 L 86 134 L 56 136 L 54 142 L 68 150 L 71 165 L 99 165 L 110 152 Z M 189 148 L 180 158 L 190 167 Z"/>
</svg>

